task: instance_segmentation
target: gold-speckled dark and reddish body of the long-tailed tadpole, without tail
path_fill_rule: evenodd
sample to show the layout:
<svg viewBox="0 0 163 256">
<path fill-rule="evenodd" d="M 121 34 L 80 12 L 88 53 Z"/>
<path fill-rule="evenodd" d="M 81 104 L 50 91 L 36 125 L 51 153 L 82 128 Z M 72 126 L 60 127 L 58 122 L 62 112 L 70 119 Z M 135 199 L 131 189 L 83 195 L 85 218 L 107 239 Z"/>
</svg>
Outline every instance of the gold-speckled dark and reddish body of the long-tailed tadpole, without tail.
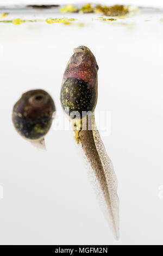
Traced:
<svg viewBox="0 0 163 256">
<path fill-rule="evenodd" d="M 95 56 L 86 46 L 74 48 L 62 80 L 60 102 L 66 112 L 78 112 L 84 117 L 93 112 L 97 103 L 97 72 Z M 68 110 L 68 112 L 67 112 Z"/>
</svg>

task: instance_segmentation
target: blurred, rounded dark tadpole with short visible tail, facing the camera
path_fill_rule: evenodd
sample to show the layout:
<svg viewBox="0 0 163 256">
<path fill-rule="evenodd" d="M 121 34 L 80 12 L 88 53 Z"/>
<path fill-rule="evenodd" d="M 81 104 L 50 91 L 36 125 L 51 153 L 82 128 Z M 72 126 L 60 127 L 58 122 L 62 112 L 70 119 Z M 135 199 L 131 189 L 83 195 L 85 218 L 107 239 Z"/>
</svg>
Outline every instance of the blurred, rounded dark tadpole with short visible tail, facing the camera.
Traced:
<svg viewBox="0 0 163 256">
<path fill-rule="evenodd" d="M 16 131 L 35 144 L 44 144 L 49 131 L 55 105 L 52 97 L 44 90 L 30 90 L 18 100 L 12 111 Z"/>
</svg>

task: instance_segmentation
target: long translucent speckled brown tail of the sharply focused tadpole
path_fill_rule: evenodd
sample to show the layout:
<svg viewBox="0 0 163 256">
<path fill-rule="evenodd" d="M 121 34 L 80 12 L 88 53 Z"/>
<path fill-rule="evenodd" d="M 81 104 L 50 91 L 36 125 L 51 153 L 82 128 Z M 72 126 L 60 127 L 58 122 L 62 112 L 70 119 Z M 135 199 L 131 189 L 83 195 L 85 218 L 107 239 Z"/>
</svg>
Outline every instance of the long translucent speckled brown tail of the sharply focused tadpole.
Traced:
<svg viewBox="0 0 163 256">
<path fill-rule="evenodd" d="M 96 128 L 95 116 L 92 117 L 92 130 L 80 131 L 82 148 L 95 173 L 105 202 L 105 216 L 115 239 L 119 237 L 119 199 L 117 179 L 112 162 L 106 153 L 104 144 Z"/>
</svg>

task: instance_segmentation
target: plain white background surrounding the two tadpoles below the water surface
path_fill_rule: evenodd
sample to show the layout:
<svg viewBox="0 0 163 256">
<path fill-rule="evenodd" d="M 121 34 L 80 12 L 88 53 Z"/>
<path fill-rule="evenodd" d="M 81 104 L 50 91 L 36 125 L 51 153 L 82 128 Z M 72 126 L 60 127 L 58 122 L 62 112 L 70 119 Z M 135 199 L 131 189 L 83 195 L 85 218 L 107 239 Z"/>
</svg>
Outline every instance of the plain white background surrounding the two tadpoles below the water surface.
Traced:
<svg viewBox="0 0 163 256">
<path fill-rule="evenodd" d="M 1 244 L 162 244 L 161 17 L 140 14 L 105 23 L 87 16 L 81 28 L 0 24 Z M 99 65 L 96 110 L 111 111 L 111 135 L 102 139 L 118 179 L 119 241 L 99 208 L 73 133 L 54 131 L 54 122 L 42 152 L 11 121 L 14 103 L 30 89 L 47 90 L 61 111 L 62 75 L 79 45 L 90 47 Z"/>
</svg>

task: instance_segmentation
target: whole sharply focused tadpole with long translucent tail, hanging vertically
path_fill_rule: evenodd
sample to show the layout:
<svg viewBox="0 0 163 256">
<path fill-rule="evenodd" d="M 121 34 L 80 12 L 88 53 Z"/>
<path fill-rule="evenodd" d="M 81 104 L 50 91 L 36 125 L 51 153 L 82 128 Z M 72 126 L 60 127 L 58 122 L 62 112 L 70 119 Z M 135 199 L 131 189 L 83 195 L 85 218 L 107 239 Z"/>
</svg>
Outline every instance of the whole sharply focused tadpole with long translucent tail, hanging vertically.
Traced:
<svg viewBox="0 0 163 256">
<path fill-rule="evenodd" d="M 82 145 L 87 160 L 91 164 L 99 188 L 98 193 L 104 199 L 102 201 L 104 201 L 105 205 L 105 217 L 112 233 L 118 239 L 119 200 L 117 196 L 117 180 L 111 160 L 96 129 L 95 115 L 93 114 L 97 103 L 97 71 L 96 58 L 89 48 L 85 46 L 75 48 L 74 54 L 64 72 L 60 101 L 67 115 L 70 112 L 78 112 L 80 114 L 80 117 L 79 115 L 76 116 L 77 120 L 74 123 L 75 127 L 79 125 L 79 129 L 74 129 L 75 138 Z M 67 112 L 67 107 L 69 108 L 69 113 Z M 89 114 L 89 117 L 88 115 L 83 115 L 83 111 L 91 111 L 92 115 Z M 73 115 L 69 115 L 69 119 L 72 120 Z"/>
</svg>

